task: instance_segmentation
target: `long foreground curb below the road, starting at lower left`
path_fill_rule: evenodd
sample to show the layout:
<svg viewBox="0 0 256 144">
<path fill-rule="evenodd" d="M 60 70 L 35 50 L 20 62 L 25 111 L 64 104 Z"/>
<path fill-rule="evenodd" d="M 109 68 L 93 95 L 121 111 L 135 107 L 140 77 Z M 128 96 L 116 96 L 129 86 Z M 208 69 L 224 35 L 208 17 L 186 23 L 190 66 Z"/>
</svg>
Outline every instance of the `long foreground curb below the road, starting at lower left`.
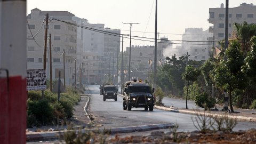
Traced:
<svg viewBox="0 0 256 144">
<path fill-rule="evenodd" d="M 149 130 L 159 130 L 159 129 L 167 129 L 172 128 L 175 125 L 171 123 L 167 124 L 153 124 L 153 125 L 142 125 L 142 126 L 131 126 L 131 127 L 117 127 L 111 129 L 91 129 L 91 130 L 71 130 L 71 131 L 81 131 L 82 133 L 87 133 L 88 131 L 94 132 L 104 132 L 108 131 L 110 133 L 127 133 L 127 132 L 142 132 Z M 68 131 L 58 131 L 58 132 L 42 132 L 42 133 L 28 133 L 26 134 L 27 141 L 35 141 L 35 140 L 47 140 L 47 139 L 57 139 L 63 138 L 63 135 Z"/>
</svg>

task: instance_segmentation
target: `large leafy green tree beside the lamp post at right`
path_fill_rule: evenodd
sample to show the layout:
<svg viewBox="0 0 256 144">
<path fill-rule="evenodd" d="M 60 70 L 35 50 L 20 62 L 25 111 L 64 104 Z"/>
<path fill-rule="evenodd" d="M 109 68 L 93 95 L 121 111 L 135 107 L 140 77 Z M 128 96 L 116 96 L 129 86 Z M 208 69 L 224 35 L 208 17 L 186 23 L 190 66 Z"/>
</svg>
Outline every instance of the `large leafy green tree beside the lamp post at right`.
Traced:
<svg viewBox="0 0 256 144">
<path fill-rule="evenodd" d="M 231 112 L 234 112 L 232 91 L 234 89 L 244 89 L 246 86 L 246 77 L 241 71 L 241 67 L 244 65 L 244 57 L 240 47 L 241 44 L 237 40 L 231 41 L 229 49 L 225 52 L 227 61 L 221 60 L 213 71 L 215 83 L 229 92 Z"/>
</svg>

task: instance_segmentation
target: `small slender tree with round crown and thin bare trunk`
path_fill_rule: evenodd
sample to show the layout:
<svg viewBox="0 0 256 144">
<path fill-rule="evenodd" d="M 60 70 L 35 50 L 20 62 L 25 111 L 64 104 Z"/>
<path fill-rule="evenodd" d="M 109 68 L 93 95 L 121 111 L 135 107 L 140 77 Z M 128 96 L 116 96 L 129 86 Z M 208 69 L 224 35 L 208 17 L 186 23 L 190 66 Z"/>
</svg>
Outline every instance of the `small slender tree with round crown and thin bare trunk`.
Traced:
<svg viewBox="0 0 256 144">
<path fill-rule="evenodd" d="M 196 79 L 200 76 L 201 71 L 199 69 L 195 69 L 192 66 L 188 65 L 185 69 L 185 73 L 182 73 L 182 78 L 188 82 L 195 82 Z M 187 96 L 186 96 L 186 109 L 188 109 L 188 88 L 187 88 Z"/>
</svg>

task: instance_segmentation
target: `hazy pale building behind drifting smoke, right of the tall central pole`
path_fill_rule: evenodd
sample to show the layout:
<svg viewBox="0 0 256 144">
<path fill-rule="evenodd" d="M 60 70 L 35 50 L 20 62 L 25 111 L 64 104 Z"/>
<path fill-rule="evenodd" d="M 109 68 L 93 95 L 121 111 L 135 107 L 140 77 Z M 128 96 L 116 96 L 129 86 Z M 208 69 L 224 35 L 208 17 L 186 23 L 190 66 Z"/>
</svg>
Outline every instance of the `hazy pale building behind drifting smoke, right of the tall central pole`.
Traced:
<svg viewBox="0 0 256 144">
<path fill-rule="evenodd" d="M 210 58 L 211 41 L 207 39 L 212 36 L 208 30 L 202 28 L 186 28 L 185 33 L 182 35 L 182 52 L 179 54 L 188 54 L 189 59 L 201 61 Z"/>
</svg>

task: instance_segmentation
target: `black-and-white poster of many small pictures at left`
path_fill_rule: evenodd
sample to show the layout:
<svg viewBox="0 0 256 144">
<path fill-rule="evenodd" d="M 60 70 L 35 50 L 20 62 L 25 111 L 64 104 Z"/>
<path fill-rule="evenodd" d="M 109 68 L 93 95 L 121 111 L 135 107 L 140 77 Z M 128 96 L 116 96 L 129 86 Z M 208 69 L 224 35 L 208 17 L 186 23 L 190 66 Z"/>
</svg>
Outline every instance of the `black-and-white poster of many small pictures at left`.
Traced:
<svg viewBox="0 0 256 144">
<path fill-rule="evenodd" d="M 45 69 L 27 69 L 27 91 L 46 90 Z"/>
</svg>

